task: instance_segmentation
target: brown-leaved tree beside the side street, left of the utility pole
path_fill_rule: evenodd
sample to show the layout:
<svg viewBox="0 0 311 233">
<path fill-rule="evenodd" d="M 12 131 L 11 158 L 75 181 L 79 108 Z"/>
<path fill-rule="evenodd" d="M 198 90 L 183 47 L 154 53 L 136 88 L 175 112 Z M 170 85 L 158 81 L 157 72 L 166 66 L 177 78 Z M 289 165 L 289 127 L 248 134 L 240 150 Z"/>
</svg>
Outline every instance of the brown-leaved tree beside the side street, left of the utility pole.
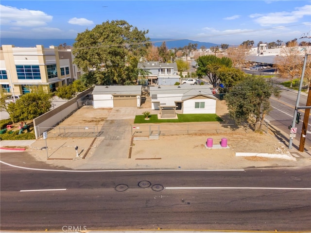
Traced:
<svg viewBox="0 0 311 233">
<path fill-rule="evenodd" d="M 287 47 L 280 50 L 280 56 L 276 56 L 275 64 L 278 73 L 285 78 L 291 79 L 291 87 L 293 87 L 293 79 L 301 75 L 303 67 L 303 58 L 300 55 L 297 42 L 294 40 L 287 43 Z"/>
</svg>

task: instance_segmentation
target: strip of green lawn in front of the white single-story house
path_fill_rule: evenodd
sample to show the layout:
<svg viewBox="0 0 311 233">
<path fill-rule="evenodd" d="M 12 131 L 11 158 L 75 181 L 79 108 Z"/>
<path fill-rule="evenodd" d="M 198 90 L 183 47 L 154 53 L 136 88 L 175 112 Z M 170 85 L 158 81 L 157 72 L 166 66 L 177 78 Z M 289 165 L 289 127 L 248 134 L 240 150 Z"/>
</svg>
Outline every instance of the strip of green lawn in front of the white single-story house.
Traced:
<svg viewBox="0 0 311 233">
<path fill-rule="evenodd" d="M 203 122 L 203 121 L 223 121 L 216 114 L 177 114 L 178 119 L 158 119 L 157 115 L 151 115 L 149 120 L 145 120 L 143 115 L 135 116 L 134 123 L 175 123 L 175 122 Z"/>
</svg>

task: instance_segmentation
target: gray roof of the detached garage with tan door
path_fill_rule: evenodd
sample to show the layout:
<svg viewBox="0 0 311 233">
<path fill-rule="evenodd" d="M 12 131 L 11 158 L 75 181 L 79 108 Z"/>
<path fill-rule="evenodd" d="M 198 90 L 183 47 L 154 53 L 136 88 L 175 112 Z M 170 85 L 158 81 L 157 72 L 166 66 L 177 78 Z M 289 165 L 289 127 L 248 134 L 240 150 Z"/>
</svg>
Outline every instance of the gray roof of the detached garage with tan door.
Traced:
<svg viewBox="0 0 311 233">
<path fill-rule="evenodd" d="M 104 85 L 95 86 L 92 92 L 93 95 L 141 95 L 141 85 Z"/>
</svg>

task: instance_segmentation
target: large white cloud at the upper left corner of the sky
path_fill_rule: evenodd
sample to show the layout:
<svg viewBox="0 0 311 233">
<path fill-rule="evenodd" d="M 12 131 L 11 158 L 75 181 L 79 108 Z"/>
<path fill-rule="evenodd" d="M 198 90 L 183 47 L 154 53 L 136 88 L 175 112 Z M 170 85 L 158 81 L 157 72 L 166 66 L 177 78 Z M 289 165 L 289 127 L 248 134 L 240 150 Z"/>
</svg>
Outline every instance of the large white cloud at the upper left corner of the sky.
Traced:
<svg viewBox="0 0 311 233">
<path fill-rule="evenodd" d="M 42 11 L 17 9 L 16 7 L 0 5 L 1 25 L 38 27 L 52 21 L 52 16 Z"/>
</svg>

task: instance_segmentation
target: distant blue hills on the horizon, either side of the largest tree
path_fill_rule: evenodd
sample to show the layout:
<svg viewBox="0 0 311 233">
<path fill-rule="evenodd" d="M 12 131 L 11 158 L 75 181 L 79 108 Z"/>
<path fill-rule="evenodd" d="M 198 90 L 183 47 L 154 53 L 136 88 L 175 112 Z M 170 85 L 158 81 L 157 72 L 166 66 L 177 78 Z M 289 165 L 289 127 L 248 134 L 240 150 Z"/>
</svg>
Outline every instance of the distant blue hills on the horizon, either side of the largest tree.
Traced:
<svg viewBox="0 0 311 233">
<path fill-rule="evenodd" d="M 206 48 L 210 48 L 212 46 L 217 46 L 217 44 L 209 43 L 209 42 L 200 42 L 194 40 L 174 40 L 174 39 L 150 39 L 151 41 L 160 41 L 155 42 L 154 45 L 156 47 L 160 47 L 165 41 L 166 47 L 168 49 L 173 48 L 183 48 L 189 43 L 198 44 L 197 48 L 200 49 L 201 46 L 205 46 Z M 72 46 L 75 42 L 74 39 L 17 39 L 17 38 L 1 38 L 0 44 L 2 45 L 14 45 L 15 47 L 35 47 L 36 45 L 43 45 L 45 48 L 49 48 L 51 45 L 59 46 L 66 43 L 68 46 Z M 220 45 L 219 45 L 220 46 Z"/>
</svg>

